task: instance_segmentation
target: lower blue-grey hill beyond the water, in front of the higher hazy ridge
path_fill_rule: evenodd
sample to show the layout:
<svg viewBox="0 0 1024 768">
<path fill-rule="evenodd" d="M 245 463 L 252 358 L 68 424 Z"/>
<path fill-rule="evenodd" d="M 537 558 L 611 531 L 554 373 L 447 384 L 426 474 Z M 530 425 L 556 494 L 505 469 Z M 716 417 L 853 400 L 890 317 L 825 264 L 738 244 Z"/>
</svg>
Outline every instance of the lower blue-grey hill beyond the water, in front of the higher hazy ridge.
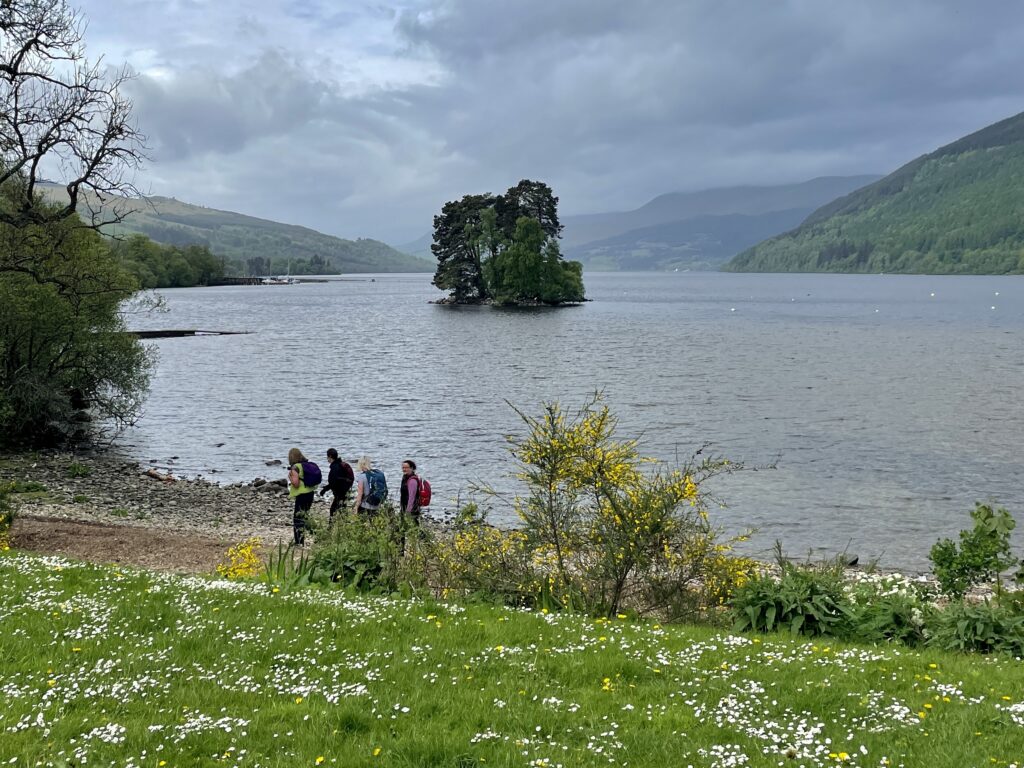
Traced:
<svg viewBox="0 0 1024 768">
<path fill-rule="evenodd" d="M 595 270 L 717 270 L 744 248 L 797 226 L 810 212 L 793 208 L 759 216 L 695 216 L 568 248 L 565 258 Z"/>
</svg>

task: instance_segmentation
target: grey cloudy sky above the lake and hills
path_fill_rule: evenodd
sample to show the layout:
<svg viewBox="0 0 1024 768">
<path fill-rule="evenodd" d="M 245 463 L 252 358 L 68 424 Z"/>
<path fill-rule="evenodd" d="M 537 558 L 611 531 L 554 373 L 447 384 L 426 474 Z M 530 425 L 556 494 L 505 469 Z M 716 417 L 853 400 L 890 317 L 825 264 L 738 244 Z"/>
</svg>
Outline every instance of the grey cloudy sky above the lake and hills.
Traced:
<svg viewBox="0 0 1024 768">
<path fill-rule="evenodd" d="M 140 188 L 392 244 L 520 178 L 630 210 L 887 173 L 1024 111 L 1017 0 L 77 5 L 138 75 Z"/>
</svg>

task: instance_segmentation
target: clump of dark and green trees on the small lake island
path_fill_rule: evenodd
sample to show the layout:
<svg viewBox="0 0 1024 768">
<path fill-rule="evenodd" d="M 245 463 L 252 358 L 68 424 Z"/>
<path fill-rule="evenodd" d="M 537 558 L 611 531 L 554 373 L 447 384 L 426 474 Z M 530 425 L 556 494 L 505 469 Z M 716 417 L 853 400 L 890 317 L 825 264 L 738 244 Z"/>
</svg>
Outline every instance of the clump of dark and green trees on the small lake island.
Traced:
<svg viewBox="0 0 1024 768">
<path fill-rule="evenodd" d="M 562 259 L 561 231 L 558 198 L 542 181 L 445 203 L 434 216 L 433 283 L 455 304 L 583 301 L 583 266 Z"/>
</svg>

